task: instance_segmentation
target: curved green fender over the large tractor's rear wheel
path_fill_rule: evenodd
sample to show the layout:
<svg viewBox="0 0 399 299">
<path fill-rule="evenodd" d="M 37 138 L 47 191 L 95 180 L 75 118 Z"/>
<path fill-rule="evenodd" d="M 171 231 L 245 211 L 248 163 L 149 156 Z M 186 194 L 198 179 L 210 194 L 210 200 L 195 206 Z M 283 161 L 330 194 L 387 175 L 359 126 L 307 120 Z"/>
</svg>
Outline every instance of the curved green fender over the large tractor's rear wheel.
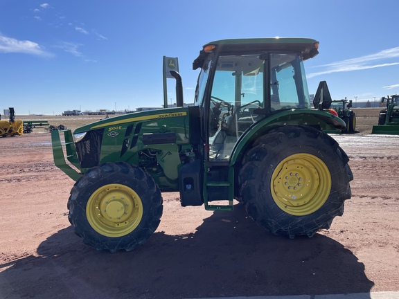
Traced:
<svg viewBox="0 0 399 299">
<path fill-rule="evenodd" d="M 270 129 L 285 125 L 308 126 L 318 128 L 321 131 L 328 131 L 328 133 L 335 131 L 340 132 L 346 128 L 344 120 L 323 110 L 290 109 L 278 111 L 278 113 L 272 112 L 272 114 L 254 124 L 245 134 L 240 136 L 240 139 L 233 149 L 230 166 L 236 164 L 236 161 L 241 161 L 242 155 L 245 154 L 247 147 L 249 147 L 256 138 L 262 136 Z"/>
</svg>

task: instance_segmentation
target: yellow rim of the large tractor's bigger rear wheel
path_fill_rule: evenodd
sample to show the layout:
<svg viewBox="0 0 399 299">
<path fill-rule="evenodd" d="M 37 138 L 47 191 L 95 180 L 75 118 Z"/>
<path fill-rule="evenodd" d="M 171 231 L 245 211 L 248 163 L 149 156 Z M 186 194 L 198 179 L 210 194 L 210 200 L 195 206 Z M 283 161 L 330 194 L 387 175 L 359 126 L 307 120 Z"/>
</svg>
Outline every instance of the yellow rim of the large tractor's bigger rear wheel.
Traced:
<svg viewBox="0 0 399 299">
<path fill-rule="evenodd" d="M 308 215 L 319 210 L 330 190 L 330 171 L 312 154 L 289 156 L 272 174 L 272 197 L 281 210 L 291 215 Z"/>
</svg>

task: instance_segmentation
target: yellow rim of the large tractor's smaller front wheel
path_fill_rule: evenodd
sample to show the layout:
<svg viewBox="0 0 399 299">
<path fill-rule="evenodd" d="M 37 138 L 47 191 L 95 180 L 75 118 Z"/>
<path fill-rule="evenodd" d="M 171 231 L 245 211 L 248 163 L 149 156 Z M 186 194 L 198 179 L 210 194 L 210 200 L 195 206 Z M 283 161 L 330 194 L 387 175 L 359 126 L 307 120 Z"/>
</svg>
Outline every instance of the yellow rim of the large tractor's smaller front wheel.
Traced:
<svg viewBox="0 0 399 299">
<path fill-rule="evenodd" d="M 120 184 L 103 185 L 87 201 L 86 216 L 97 233 L 122 237 L 139 225 L 143 203 L 132 188 Z"/>
</svg>

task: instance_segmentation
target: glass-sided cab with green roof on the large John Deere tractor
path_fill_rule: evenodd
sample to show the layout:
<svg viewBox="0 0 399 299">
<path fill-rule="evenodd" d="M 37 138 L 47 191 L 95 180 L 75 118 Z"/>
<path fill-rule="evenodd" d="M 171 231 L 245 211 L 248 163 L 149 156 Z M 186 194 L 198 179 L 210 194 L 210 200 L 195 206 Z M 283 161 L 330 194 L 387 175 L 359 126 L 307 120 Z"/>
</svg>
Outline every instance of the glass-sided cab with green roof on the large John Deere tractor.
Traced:
<svg viewBox="0 0 399 299">
<path fill-rule="evenodd" d="M 303 60 L 319 52 L 314 39 L 227 39 L 206 44 L 193 63 L 195 105 L 209 163 L 228 163 L 240 137 L 282 111 L 311 109 Z M 267 122 L 265 122 L 267 125 Z M 276 122 L 269 125 L 276 125 Z"/>
</svg>

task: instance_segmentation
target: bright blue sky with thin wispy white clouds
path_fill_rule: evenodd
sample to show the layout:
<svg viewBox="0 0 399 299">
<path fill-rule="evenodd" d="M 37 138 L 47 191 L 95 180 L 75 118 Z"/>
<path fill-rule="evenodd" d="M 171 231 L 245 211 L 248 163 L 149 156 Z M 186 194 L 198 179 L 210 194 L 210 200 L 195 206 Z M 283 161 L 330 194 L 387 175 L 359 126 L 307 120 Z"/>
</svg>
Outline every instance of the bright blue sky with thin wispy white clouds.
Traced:
<svg viewBox="0 0 399 299">
<path fill-rule="evenodd" d="M 179 57 L 193 102 L 202 45 L 241 37 L 317 39 L 310 93 L 326 80 L 335 100 L 378 100 L 399 93 L 398 9 L 397 0 L 0 0 L 0 114 L 161 107 L 163 55 Z"/>
</svg>

